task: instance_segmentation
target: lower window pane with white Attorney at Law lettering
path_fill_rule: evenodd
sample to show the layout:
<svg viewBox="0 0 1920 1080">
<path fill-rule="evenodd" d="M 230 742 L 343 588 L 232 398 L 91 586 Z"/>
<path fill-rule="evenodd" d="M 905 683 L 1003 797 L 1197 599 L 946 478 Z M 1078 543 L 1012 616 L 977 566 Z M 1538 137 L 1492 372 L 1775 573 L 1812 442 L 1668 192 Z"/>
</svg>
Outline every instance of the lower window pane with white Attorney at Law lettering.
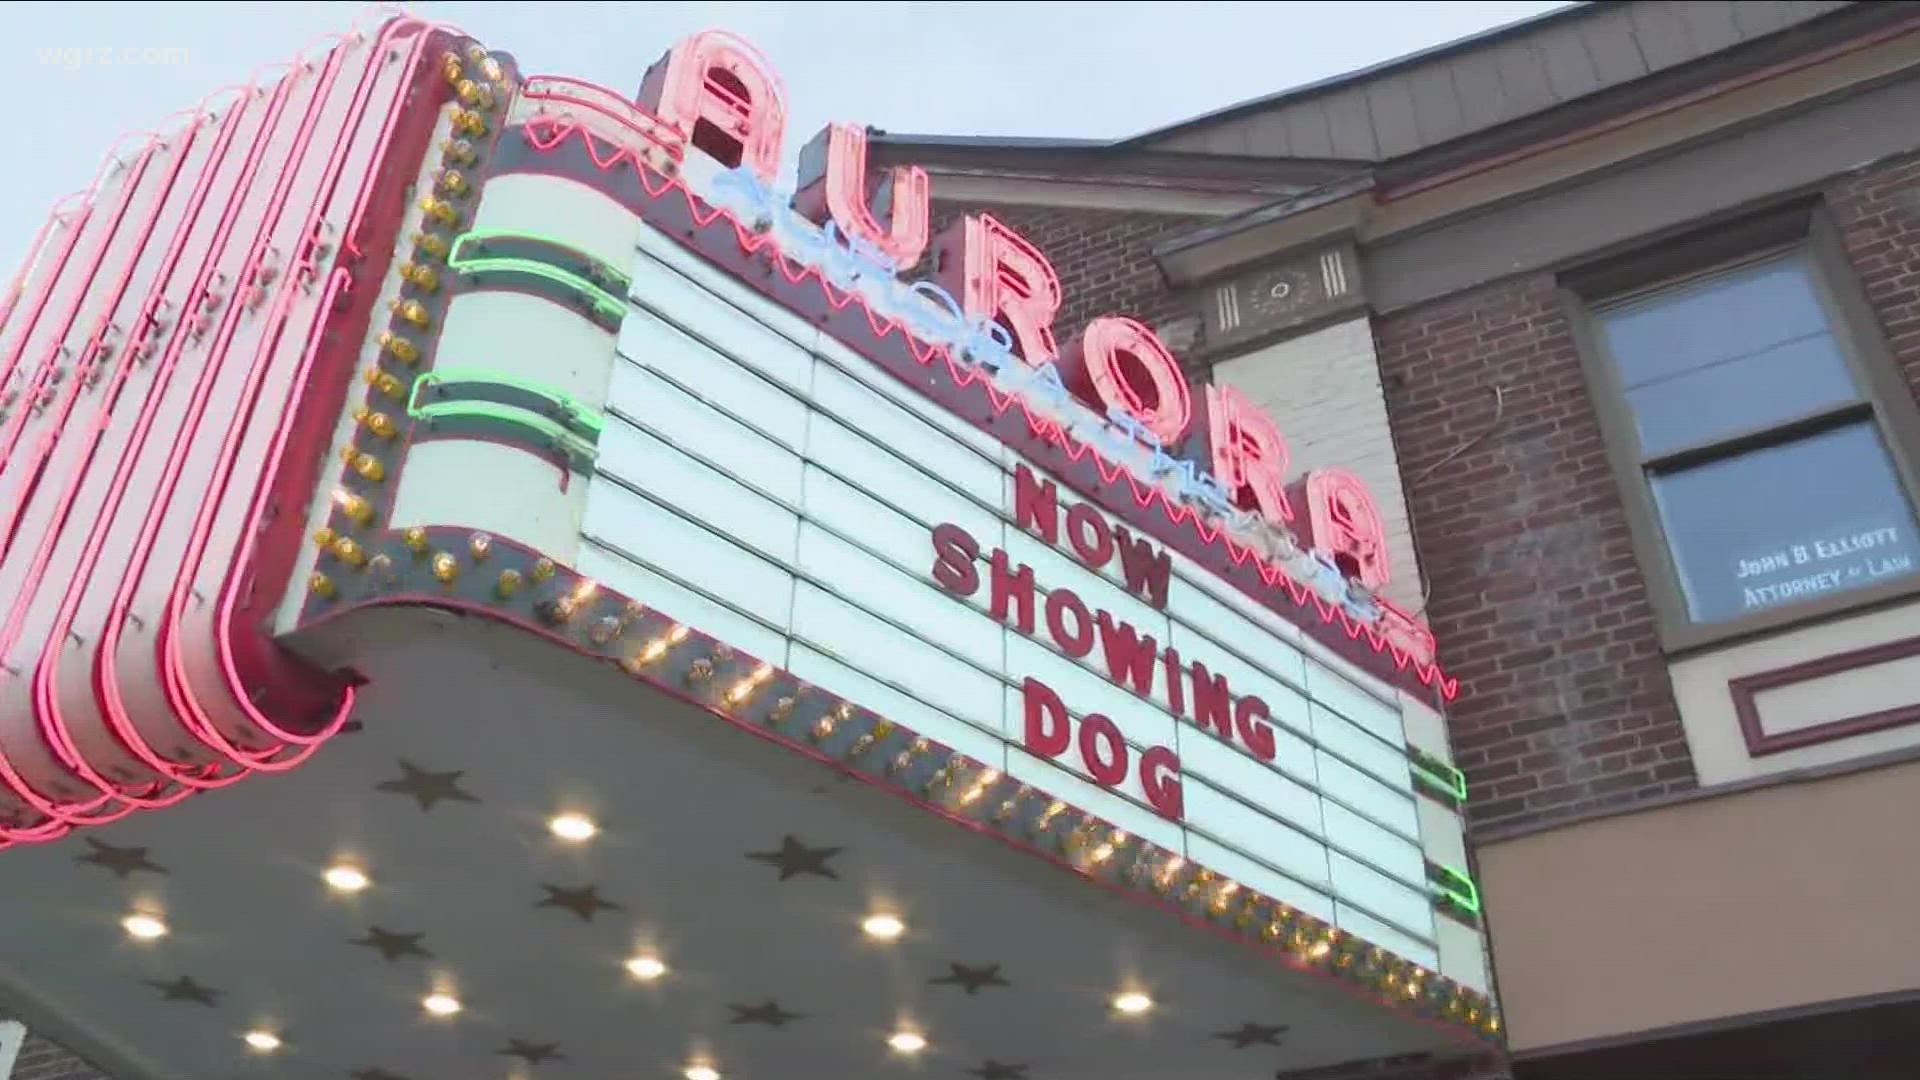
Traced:
<svg viewBox="0 0 1920 1080">
<path fill-rule="evenodd" d="M 1872 421 L 1651 477 L 1688 609 L 1720 623 L 1920 567 Z"/>
</svg>

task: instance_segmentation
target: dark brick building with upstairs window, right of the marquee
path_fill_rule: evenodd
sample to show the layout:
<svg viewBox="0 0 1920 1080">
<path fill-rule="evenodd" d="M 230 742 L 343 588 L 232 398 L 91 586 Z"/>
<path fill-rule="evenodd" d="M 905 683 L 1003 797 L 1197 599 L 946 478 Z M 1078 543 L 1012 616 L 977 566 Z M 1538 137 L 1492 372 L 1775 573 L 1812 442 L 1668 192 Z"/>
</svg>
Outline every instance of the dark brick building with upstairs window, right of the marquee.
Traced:
<svg viewBox="0 0 1920 1080">
<path fill-rule="evenodd" d="M 1369 486 L 1519 1078 L 1920 1061 L 1916 63 L 1907 4 L 1586 4 L 1119 142 L 876 140 L 1064 334 L 1133 311 Z"/>
</svg>

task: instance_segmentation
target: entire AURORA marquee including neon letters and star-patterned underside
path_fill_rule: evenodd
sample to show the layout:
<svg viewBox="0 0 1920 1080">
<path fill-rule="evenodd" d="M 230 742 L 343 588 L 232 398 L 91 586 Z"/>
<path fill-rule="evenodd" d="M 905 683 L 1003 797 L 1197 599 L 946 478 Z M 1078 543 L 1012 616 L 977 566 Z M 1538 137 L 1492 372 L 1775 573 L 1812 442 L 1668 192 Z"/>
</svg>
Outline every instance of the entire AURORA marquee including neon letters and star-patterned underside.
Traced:
<svg viewBox="0 0 1920 1080">
<path fill-rule="evenodd" d="M 0 294 L 0 1074 L 1500 1068 L 1384 405 L 1190 386 L 735 37 L 495 44 L 217 90 Z"/>
</svg>

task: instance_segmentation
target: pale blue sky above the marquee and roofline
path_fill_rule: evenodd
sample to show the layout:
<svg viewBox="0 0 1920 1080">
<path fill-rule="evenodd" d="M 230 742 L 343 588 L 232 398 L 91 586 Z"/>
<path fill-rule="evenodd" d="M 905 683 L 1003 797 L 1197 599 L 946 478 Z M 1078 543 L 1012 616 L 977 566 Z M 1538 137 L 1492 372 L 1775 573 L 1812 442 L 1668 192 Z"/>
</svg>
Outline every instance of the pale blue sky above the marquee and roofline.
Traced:
<svg viewBox="0 0 1920 1080">
<path fill-rule="evenodd" d="M 687 33 L 755 42 L 787 90 L 785 158 L 828 121 L 895 133 L 1119 138 L 1511 23 L 1553 2 L 420 2 L 526 73 L 637 90 Z M 125 133 L 246 81 L 359 2 L 0 4 L 0 275 Z"/>
</svg>

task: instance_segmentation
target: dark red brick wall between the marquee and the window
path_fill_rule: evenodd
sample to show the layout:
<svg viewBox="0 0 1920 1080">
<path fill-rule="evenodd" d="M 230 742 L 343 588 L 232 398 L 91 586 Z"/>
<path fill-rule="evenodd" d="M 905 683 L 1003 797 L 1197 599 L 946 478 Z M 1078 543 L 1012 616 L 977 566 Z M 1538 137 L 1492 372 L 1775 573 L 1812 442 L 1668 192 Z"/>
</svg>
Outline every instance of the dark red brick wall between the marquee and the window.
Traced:
<svg viewBox="0 0 1920 1080">
<path fill-rule="evenodd" d="M 1375 321 L 1480 830 L 1693 786 L 1626 509 L 1546 275 Z M 1432 469 L 1494 417 L 1492 436 Z"/>
</svg>

